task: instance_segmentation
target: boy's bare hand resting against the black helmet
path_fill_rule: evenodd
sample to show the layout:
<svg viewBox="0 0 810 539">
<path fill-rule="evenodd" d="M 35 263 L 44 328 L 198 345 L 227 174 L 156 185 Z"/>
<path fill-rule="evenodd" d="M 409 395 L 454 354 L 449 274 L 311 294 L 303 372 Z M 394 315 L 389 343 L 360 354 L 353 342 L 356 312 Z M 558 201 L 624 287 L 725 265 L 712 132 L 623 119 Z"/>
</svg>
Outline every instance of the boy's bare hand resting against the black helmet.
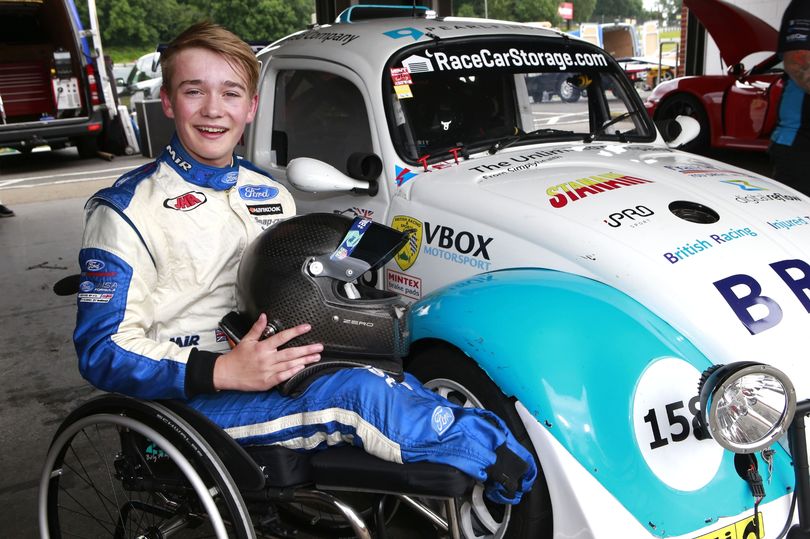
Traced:
<svg viewBox="0 0 810 539">
<path fill-rule="evenodd" d="M 239 391 L 266 391 L 292 378 L 305 366 L 321 358 L 322 344 L 309 344 L 279 350 L 278 348 L 311 326 L 302 324 L 259 341 L 267 326 L 262 313 L 250 331 L 230 352 L 214 364 L 214 387 Z"/>
</svg>

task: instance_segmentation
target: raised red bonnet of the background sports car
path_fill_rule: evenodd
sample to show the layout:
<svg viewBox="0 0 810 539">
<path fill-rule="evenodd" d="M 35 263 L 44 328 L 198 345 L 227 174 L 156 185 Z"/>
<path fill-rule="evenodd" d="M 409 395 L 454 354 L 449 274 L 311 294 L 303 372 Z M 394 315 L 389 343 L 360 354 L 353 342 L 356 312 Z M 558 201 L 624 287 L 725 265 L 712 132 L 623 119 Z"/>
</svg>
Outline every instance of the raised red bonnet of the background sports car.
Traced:
<svg viewBox="0 0 810 539">
<path fill-rule="evenodd" d="M 711 34 L 726 64 L 738 64 L 749 54 L 776 51 L 779 32 L 744 9 L 723 0 L 684 0 L 684 4 Z"/>
</svg>

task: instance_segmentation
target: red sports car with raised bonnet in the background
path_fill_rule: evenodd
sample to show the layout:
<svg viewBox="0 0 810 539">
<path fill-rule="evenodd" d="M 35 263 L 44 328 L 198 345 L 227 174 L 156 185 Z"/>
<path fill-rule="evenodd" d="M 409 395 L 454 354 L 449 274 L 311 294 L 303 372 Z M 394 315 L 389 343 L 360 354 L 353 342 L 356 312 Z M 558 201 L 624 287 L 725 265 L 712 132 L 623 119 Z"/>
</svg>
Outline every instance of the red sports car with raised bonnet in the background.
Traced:
<svg viewBox="0 0 810 539">
<path fill-rule="evenodd" d="M 779 32 L 723 0 L 684 3 L 714 38 L 728 73 L 663 82 L 647 98 L 647 112 L 655 121 L 680 114 L 698 120 L 701 133 L 683 148 L 687 151 L 767 150 L 784 84 L 782 62 L 776 54 L 750 69 L 740 62 L 753 53 L 776 51 Z"/>
</svg>

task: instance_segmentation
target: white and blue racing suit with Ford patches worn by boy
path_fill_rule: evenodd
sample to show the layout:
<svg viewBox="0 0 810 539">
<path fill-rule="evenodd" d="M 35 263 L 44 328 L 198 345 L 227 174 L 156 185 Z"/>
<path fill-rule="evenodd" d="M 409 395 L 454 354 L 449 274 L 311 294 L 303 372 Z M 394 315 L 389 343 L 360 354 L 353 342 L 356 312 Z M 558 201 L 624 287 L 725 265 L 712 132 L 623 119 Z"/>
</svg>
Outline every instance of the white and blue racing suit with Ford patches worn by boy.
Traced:
<svg viewBox="0 0 810 539">
<path fill-rule="evenodd" d="M 228 350 L 218 322 L 236 308 L 242 253 L 294 213 L 292 196 L 266 173 L 235 157 L 225 168 L 198 163 L 176 137 L 154 163 L 96 193 L 79 254 L 82 375 L 107 391 L 185 399 L 244 445 L 350 443 L 388 461 L 449 464 L 484 482 L 491 499 L 519 501 L 536 466 L 505 424 L 410 375 L 398 383 L 344 369 L 296 397 L 215 391 L 214 363 Z M 503 473 L 510 486 L 492 478 Z"/>
</svg>

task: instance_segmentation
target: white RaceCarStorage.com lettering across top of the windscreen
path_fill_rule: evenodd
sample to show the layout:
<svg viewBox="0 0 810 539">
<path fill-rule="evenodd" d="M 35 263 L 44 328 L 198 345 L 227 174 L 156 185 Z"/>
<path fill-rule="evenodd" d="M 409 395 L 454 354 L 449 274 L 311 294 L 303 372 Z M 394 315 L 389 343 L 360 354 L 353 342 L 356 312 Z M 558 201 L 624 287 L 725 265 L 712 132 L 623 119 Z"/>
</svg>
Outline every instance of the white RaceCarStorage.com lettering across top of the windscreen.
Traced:
<svg viewBox="0 0 810 539">
<path fill-rule="evenodd" d="M 607 65 L 607 55 L 601 52 L 526 51 L 517 47 L 503 51 L 479 49 L 459 54 L 425 51 L 425 56 L 412 55 L 402 61 L 402 66 L 411 73 L 522 67 L 565 71 L 571 68 L 607 67 Z"/>
</svg>

